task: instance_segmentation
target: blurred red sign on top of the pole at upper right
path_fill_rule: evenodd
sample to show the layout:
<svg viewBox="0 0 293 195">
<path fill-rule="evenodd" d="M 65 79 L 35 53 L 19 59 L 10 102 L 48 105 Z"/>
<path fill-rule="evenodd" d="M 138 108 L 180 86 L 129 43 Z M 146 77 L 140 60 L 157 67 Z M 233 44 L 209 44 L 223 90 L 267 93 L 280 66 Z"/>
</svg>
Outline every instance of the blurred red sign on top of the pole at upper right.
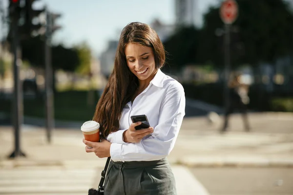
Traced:
<svg viewBox="0 0 293 195">
<path fill-rule="evenodd" d="M 220 8 L 220 17 L 225 24 L 233 23 L 238 16 L 238 5 L 235 0 L 224 0 Z"/>
</svg>

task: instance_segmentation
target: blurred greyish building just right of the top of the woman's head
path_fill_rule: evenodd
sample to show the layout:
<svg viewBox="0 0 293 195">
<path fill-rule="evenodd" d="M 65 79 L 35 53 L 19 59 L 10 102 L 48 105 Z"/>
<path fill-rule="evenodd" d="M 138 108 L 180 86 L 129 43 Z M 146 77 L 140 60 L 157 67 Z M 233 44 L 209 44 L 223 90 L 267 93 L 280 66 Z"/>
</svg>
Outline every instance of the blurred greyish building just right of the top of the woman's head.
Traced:
<svg viewBox="0 0 293 195">
<path fill-rule="evenodd" d="M 164 24 L 159 19 L 155 19 L 150 26 L 157 32 L 162 42 L 174 33 L 176 27 L 174 24 Z"/>
</svg>

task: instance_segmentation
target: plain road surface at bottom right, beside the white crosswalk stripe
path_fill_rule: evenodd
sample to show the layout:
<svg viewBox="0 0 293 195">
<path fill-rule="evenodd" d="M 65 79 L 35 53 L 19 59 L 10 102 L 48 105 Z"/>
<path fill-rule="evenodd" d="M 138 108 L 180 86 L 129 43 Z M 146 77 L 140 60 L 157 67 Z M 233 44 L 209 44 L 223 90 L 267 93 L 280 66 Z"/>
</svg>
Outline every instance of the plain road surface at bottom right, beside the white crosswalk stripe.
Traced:
<svg viewBox="0 0 293 195">
<path fill-rule="evenodd" d="M 191 168 L 210 195 L 293 195 L 293 169 Z"/>
</svg>

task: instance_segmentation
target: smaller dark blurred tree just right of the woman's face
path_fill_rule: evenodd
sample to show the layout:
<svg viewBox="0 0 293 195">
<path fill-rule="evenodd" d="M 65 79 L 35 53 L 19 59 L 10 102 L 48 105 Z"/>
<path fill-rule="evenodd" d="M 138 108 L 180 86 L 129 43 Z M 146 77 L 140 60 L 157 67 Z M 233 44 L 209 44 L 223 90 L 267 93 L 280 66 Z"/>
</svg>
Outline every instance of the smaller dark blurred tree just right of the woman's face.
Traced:
<svg viewBox="0 0 293 195">
<path fill-rule="evenodd" d="M 164 42 L 167 51 L 165 70 L 180 70 L 183 65 L 196 62 L 199 31 L 194 27 L 182 27 Z"/>
</svg>

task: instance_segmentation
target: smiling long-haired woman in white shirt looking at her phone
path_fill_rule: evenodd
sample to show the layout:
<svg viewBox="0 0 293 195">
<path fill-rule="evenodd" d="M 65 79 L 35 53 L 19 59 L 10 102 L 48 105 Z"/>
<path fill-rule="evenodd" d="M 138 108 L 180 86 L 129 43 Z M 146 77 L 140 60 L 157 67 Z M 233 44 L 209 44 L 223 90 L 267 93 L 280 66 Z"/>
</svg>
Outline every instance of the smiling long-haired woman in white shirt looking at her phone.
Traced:
<svg viewBox="0 0 293 195">
<path fill-rule="evenodd" d="M 101 142 L 84 140 L 85 151 L 111 156 L 105 195 L 176 195 L 175 179 L 166 157 L 174 147 L 185 115 L 182 85 L 160 68 L 165 50 L 156 32 L 140 22 L 121 33 L 114 70 L 93 120 L 101 124 Z M 150 128 L 135 130 L 146 115 Z"/>
</svg>

